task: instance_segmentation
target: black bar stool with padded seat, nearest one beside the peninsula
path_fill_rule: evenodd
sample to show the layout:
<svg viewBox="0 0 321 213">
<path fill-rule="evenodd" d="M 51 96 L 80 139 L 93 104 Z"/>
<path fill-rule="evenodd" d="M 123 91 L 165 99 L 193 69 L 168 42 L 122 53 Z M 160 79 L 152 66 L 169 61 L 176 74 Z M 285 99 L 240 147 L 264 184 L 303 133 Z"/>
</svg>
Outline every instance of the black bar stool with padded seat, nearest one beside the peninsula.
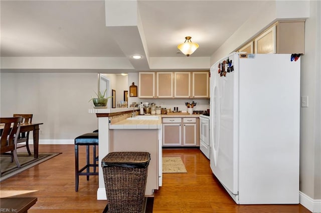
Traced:
<svg viewBox="0 0 321 213">
<path fill-rule="evenodd" d="M 86 165 L 79 169 L 79 156 L 78 156 L 78 146 L 85 145 L 86 146 Z M 76 179 L 76 188 L 78 191 L 79 184 L 79 175 L 86 175 L 87 180 L 89 180 L 89 175 L 98 175 L 96 172 L 96 167 L 98 164 L 96 163 L 98 157 L 96 156 L 96 145 L 98 145 L 98 132 L 86 133 L 80 135 L 75 138 L 75 179 Z M 89 147 L 93 146 L 93 163 L 89 161 Z M 94 171 L 90 172 L 90 167 L 93 167 Z M 86 172 L 84 170 L 86 169 Z"/>
</svg>

